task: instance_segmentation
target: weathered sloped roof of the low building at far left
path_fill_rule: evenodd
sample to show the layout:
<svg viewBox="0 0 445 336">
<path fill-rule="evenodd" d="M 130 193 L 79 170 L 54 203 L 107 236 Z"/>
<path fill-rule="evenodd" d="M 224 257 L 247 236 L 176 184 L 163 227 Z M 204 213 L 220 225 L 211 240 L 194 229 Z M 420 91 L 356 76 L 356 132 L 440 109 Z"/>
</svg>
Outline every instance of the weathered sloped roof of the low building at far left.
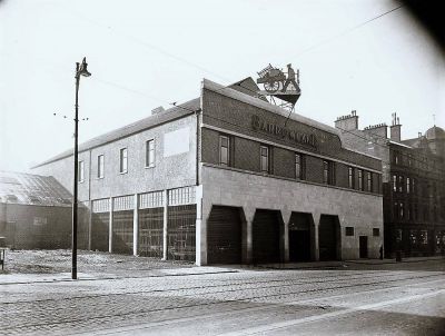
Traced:
<svg viewBox="0 0 445 336">
<path fill-rule="evenodd" d="M 71 207 L 71 200 L 52 176 L 0 170 L 0 202 Z"/>
</svg>

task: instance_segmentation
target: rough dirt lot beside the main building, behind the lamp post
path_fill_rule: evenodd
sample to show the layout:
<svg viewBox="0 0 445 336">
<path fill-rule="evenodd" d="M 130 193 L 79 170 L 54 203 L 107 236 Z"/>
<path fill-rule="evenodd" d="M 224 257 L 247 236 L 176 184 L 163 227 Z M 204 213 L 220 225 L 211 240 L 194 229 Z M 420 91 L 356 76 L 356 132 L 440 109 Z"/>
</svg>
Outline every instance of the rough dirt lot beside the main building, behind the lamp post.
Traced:
<svg viewBox="0 0 445 336">
<path fill-rule="evenodd" d="M 78 250 L 78 271 L 120 273 L 194 267 L 187 261 L 162 261 L 157 258 Z M 4 270 L 0 274 L 56 274 L 71 271 L 70 249 L 7 250 Z"/>
</svg>

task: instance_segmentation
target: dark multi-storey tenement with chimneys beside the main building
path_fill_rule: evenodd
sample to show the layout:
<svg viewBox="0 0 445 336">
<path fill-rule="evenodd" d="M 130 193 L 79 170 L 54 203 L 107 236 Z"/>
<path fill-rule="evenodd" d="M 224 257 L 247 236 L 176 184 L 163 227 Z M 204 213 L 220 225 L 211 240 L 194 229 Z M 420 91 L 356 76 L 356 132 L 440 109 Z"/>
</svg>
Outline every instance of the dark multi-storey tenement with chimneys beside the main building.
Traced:
<svg viewBox="0 0 445 336">
<path fill-rule="evenodd" d="M 353 111 L 337 119 L 345 142 L 382 158 L 385 255 L 429 256 L 445 247 L 445 131 L 429 128 L 402 140 L 396 115 L 389 127 L 358 129 Z"/>
</svg>

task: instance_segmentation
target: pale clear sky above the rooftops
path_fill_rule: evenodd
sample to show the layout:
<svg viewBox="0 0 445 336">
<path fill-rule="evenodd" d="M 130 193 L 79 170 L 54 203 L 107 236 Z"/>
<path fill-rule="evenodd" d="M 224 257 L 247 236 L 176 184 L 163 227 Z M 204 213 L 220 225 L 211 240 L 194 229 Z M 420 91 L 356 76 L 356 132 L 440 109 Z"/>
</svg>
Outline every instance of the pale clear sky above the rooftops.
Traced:
<svg viewBox="0 0 445 336">
<path fill-rule="evenodd" d="M 359 128 L 397 112 L 402 138 L 445 128 L 445 59 L 393 0 L 0 0 L 0 169 L 30 167 L 79 140 L 199 96 L 202 78 L 300 71 L 296 112 Z M 372 20 L 372 21 L 369 21 Z M 367 22 L 367 23 L 365 23 Z M 57 113 L 57 116 L 53 116 Z M 435 115 L 435 117 L 433 117 Z M 66 116 L 66 118 L 63 118 Z"/>
</svg>

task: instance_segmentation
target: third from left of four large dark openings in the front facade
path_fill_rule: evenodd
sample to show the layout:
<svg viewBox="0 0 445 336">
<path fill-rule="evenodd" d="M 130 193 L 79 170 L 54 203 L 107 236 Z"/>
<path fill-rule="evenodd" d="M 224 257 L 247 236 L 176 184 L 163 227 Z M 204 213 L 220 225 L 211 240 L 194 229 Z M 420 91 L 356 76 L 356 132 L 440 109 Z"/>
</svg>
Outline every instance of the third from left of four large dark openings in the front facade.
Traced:
<svg viewBox="0 0 445 336">
<path fill-rule="evenodd" d="M 289 261 L 310 260 L 310 214 L 291 214 L 289 221 Z"/>
</svg>

